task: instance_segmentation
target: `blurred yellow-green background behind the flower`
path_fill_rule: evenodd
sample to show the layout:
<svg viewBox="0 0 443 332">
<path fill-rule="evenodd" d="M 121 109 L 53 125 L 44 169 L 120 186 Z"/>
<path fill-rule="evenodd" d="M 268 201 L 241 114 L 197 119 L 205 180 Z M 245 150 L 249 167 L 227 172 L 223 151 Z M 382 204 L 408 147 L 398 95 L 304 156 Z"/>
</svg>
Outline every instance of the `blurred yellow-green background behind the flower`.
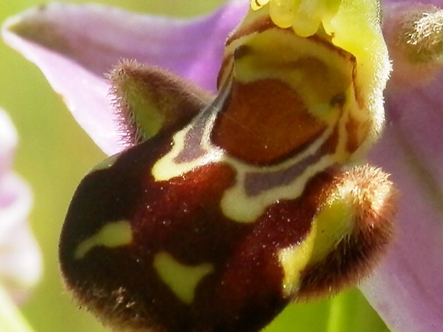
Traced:
<svg viewBox="0 0 443 332">
<path fill-rule="evenodd" d="M 223 1 L 97 2 L 138 12 L 190 17 L 209 12 Z M 35 0 L 0 0 L 0 21 L 40 4 L 41 1 Z M 42 73 L 3 43 L 0 43 L 0 107 L 10 113 L 19 131 L 15 169 L 33 187 L 35 203 L 30 221 L 44 255 L 42 282 L 22 306 L 22 311 L 36 332 L 106 331 L 92 315 L 78 310 L 71 302 L 57 266 L 57 240 L 71 195 L 82 176 L 105 155 L 71 118 Z M 359 291 L 351 290 L 332 299 L 292 305 L 266 331 L 383 332 L 388 329 Z"/>
</svg>

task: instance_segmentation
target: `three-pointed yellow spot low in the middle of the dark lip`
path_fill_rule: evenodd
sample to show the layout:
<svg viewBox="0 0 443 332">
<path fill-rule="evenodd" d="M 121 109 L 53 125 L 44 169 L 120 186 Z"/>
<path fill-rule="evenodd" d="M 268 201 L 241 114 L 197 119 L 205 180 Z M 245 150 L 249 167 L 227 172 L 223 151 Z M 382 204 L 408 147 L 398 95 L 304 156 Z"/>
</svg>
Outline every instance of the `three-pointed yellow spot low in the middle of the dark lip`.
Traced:
<svg viewBox="0 0 443 332">
<path fill-rule="evenodd" d="M 153 265 L 160 279 L 186 304 L 194 301 L 195 288 L 201 279 L 214 272 L 213 264 L 188 266 L 164 251 L 155 255 Z"/>
</svg>

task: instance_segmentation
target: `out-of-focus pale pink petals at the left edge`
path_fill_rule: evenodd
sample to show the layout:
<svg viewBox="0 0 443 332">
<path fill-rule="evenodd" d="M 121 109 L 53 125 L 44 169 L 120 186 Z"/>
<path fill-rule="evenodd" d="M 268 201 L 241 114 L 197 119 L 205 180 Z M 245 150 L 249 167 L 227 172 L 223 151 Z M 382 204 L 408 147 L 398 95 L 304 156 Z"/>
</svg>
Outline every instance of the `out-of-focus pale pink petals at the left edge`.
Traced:
<svg viewBox="0 0 443 332">
<path fill-rule="evenodd" d="M 21 302 L 42 273 L 42 257 L 30 231 L 29 187 L 19 176 L 0 178 L 0 284 Z"/>
</svg>

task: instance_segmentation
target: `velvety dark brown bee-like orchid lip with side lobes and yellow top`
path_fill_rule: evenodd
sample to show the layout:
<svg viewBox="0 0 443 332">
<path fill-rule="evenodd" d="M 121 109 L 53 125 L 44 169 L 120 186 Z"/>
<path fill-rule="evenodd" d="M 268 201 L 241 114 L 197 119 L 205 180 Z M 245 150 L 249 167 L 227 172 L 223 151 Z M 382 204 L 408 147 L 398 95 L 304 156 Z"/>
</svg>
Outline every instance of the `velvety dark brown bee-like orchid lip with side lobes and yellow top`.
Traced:
<svg viewBox="0 0 443 332">
<path fill-rule="evenodd" d="M 359 163 L 390 70 L 378 8 L 286 2 L 251 3 L 215 97 L 134 62 L 109 74 L 132 147 L 80 183 L 60 240 L 68 288 L 104 322 L 259 331 L 385 252 L 395 190 Z"/>
</svg>

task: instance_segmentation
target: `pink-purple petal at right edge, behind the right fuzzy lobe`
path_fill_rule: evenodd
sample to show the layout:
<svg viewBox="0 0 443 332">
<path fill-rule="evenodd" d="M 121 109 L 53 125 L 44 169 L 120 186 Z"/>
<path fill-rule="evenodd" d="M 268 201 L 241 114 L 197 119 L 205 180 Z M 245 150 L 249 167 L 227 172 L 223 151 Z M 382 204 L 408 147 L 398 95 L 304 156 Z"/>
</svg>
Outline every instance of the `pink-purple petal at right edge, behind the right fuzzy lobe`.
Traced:
<svg viewBox="0 0 443 332">
<path fill-rule="evenodd" d="M 398 236 L 363 293 L 393 331 L 443 326 L 443 71 L 410 91 L 386 91 L 388 126 L 371 160 L 401 192 Z"/>
</svg>

